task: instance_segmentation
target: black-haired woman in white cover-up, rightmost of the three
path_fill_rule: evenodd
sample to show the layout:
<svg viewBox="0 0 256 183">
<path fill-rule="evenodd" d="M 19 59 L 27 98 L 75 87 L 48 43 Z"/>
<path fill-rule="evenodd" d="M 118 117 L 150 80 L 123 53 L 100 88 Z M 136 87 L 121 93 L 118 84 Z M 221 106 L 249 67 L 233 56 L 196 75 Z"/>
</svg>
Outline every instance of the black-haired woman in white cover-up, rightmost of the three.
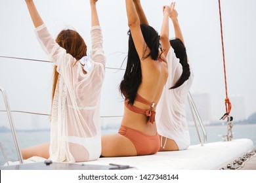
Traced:
<svg viewBox="0 0 256 183">
<path fill-rule="evenodd" d="M 175 3 L 163 7 L 161 47 L 166 54 L 169 76 L 158 103 L 156 124 L 160 135 L 160 151 L 184 150 L 190 145 L 185 103 L 192 85 L 193 73 L 188 64 Z M 173 22 L 175 39 L 169 40 L 169 18 Z"/>
</svg>

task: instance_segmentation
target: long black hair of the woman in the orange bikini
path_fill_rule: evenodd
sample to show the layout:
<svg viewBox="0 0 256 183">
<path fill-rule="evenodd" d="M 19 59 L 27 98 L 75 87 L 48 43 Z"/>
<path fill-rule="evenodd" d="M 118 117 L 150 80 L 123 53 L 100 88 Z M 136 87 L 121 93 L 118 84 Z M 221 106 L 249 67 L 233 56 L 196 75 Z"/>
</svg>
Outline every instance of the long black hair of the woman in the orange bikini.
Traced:
<svg viewBox="0 0 256 183">
<path fill-rule="evenodd" d="M 160 37 L 158 32 L 150 25 L 140 25 L 142 35 L 146 45 L 144 46 L 144 52 L 142 58 L 139 58 L 135 44 L 133 42 L 133 37 L 131 31 L 128 31 L 129 35 L 129 47 L 127 56 L 127 66 L 125 69 L 125 75 L 121 80 L 119 85 L 119 91 L 128 99 L 128 103 L 133 104 L 135 97 L 137 95 L 137 90 L 142 81 L 142 72 L 140 67 L 140 59 L 146 59 L 151 57 L 152 59 L 157 59 L 160 47 Z M 147 50 L 150 50 L 149 54 L 145 54 Z"/>
</svg>

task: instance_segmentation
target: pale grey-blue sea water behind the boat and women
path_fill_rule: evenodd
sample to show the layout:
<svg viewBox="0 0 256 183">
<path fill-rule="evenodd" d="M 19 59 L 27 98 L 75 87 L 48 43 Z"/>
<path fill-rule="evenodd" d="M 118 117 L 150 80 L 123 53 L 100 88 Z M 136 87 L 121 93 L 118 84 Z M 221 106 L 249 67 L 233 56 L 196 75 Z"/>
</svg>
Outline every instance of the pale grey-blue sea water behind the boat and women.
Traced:
<svg viewBox="0 0 256 183">
<path fill-rule="evenodd" d="M 117 133 L 118 129 L 102 129 L 102 135 Z M 189 127 L 191 145 L 200 144 L 196 127 Z M 221 136 L 227 134 L 226 125 L 205 126 L 207 142 L 221 141 Z M 251 139 L 256 146 L 256 124 L 234 125 L 232 127 L 233 139 Z M 202 133 L 200 133 L 202 136 Z M 50 131 L 30 131 L 16 133 L 20 148 L 26 148 L 50 141 Z M 202 136 L 203 140 L 203 136 Z M 0 133 L 0 142 L 9 161 L 18 161 L 18 155 L 12 133 Z M 0 152 L 0 165 L 5 164 L 3 152 Z"/>
</svg>

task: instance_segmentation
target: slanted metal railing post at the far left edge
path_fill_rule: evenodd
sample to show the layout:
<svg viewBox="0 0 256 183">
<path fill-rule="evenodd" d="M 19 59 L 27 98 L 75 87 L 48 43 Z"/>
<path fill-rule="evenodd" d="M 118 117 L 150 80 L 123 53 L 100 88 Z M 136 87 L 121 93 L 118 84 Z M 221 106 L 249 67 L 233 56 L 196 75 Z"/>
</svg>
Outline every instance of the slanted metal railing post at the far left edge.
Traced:
<svg viewBox="0 0 256 183">
<path fill-rule="evenodd" d="M 15 144 L 16 151 L 17 151 L 17 154 L 18 154 L 18 159 L 19 159 L 20 163 L 22 164 L 23 163 L 23 158 L 22 158 L 20 146 L 19 146 L 19 143 L 18 143 L 17 135 L 16 135 L 16 129 L 14 127 L 14 123 L 13 123 L 13 120 L 12 120 L 12 114 L 11 114 L 9 101 L 8 101 L 8 98 L 7 98 L 7 93 L 1 87 L 0 87 L 0 91 L 3 94 L 3 100 L 5 101 L 5 108 L 6 108 L 6 111 L 7 111 L 8 118 L 9 118 L 11 131 L 12 131 L 12 137 L 14 139 L 14 144 Z M 3 148 L 1 148 L 1 149 L 3 151 Z M 4 154 L 4 152 L 3 152 L 3 154 Z"/>
</svg>

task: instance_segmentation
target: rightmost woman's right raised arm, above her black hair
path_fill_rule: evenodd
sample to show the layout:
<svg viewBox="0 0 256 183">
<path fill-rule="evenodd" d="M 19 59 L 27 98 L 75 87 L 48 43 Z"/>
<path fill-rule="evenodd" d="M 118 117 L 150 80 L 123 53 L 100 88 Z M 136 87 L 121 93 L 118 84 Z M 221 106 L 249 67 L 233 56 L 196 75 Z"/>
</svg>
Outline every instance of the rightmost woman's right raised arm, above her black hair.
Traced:
<svg viewBox="0 0 256 183">
<path fill-rule="evenodd" d="M 180 27 L 179 21 L 178 21 L 178 12 L 177 12 L 177 10 L 175 10 L 175 2 L 171 3 L 171 11 L 169 12 L 169 17 L 171 18 L 171 20 L 173 22 L 175 37 L 181 39 L 181 41 L 185 45 L 184 39 L 182 36 L 182 32 L 181 32 L 181 27 Z"/>
</svg>

